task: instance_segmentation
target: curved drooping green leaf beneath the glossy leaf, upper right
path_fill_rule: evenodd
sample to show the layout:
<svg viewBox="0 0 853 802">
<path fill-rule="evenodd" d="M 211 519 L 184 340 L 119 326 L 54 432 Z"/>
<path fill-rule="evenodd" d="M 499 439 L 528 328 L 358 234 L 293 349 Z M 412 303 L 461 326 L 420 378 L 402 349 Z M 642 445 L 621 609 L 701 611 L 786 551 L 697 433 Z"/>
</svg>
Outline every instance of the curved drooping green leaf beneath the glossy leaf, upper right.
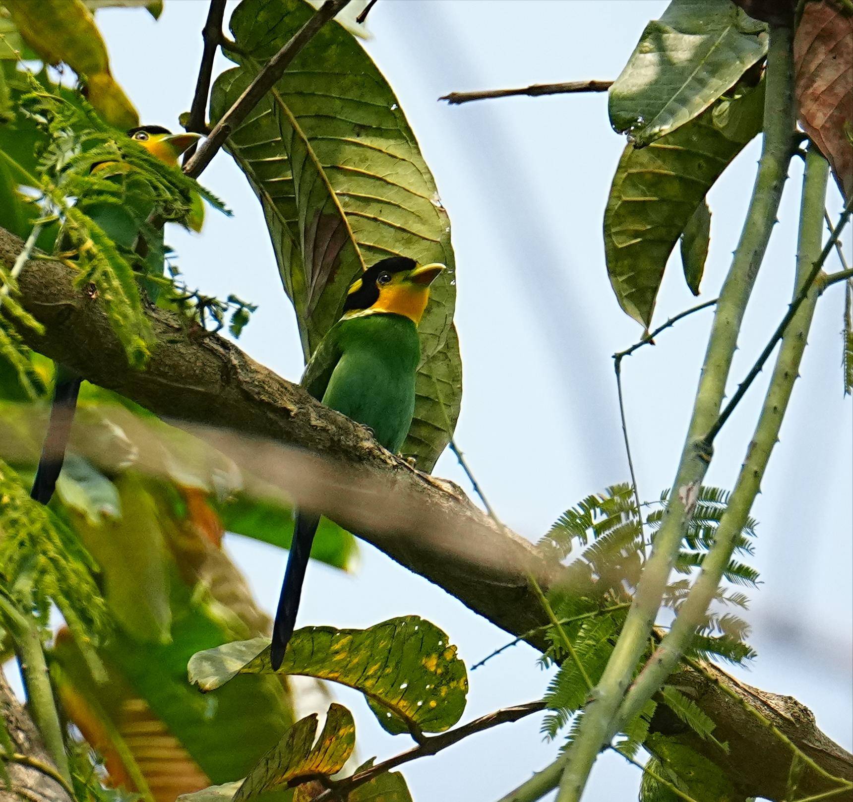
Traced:
<svg viewBox="0 0 853 802">
<path fill-rule="evenodd" d="M 652 322 L 672 248 L 722 171 L 761 131 L 763 105 L 762 81 L 647 148 L 624 149 L 604 212 L 604 247 L 619 305 L 643 326 Z"/>
</svg>

